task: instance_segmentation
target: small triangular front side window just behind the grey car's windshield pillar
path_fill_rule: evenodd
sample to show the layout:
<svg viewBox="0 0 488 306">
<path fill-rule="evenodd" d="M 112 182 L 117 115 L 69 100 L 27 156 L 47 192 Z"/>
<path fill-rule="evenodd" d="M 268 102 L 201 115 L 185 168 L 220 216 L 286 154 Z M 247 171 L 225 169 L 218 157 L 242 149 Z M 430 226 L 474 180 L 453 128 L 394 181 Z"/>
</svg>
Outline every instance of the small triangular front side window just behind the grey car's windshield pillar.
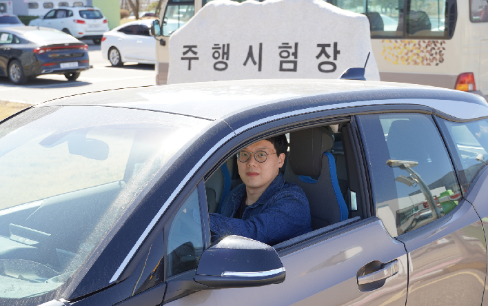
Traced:
<svg viewBox="0 0 488 306">
<path fill-rule="evenodd" d="M 167 235 L 167 277 L 196 269 L 202 252 L 200 203 L 195 189 L 176 212 Z"/>
</svg>

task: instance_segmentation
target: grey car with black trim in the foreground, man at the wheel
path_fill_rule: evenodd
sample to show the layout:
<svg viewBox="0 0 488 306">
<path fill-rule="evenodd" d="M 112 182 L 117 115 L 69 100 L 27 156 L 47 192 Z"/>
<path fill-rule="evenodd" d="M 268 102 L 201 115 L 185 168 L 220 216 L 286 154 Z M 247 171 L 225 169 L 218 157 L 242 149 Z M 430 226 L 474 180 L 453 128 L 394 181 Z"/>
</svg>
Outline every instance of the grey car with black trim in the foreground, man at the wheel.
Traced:
<svg viewBox="0 0 488 306">
<path fill-rule="evenodd" d="M 473 94 L 348 80 L 35 105 L 0 123 L 0 304 L 487 304 L 487 118 Z M 236 152 L 278 134 L 312 232 L 211 243 Z"/>
</svg>

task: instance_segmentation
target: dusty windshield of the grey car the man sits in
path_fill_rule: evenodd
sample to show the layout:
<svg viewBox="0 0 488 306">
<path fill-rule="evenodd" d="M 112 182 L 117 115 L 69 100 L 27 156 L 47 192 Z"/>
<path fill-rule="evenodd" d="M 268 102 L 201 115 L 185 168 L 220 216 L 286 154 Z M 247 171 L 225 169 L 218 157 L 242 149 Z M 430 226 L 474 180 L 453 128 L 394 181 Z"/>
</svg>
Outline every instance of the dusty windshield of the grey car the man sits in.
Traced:
<svg viewBox="0 0 488 306">
<path fill-rule="evenodd" d="M 0 304 L 67 285 L 148 180 L 208 122 L 68 106 L 2 123 Z"/>
</svg>

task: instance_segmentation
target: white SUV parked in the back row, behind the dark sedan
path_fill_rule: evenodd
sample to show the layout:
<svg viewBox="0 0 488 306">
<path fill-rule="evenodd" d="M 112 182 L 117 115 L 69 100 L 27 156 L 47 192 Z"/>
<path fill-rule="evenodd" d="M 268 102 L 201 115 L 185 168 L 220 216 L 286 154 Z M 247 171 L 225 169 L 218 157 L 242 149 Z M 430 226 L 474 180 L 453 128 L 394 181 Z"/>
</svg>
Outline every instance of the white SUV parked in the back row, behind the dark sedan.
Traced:
<svg viewBox="0 0 488 306">
<path fill-rule="evenodd" d="M 92 6 L 54 8 L 44 17 L 30 21 L 29 26 L 54 28 L 77 39 L 92 39 L 96 44 L 110 30 L 101 10 Z"/>
</svg>

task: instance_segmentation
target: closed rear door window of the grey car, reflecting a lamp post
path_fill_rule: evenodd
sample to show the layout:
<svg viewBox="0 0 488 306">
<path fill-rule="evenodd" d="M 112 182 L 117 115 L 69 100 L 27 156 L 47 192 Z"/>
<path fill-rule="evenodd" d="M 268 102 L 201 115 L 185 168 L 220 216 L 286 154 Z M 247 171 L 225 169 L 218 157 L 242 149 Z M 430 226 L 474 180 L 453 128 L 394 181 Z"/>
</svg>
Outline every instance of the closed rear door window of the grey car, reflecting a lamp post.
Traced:
<svg viewBox="0 0 488 306">
<path fill-rule="evenodd" d="M 431 116 L 358 116 L 375 198 L 376 216 L 399 236 L 449 214 L 460 187 Z"/>
</svg>

